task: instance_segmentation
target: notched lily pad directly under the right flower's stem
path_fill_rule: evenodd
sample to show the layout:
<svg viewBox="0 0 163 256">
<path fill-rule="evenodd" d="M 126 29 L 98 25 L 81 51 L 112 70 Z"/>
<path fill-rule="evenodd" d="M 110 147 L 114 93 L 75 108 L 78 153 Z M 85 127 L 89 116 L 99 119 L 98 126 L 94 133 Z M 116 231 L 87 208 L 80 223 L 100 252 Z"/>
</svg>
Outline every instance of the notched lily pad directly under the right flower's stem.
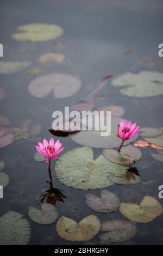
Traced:
<svg viewBox="0 0 163 256">
<path fill-rule="evenodd" d="M 142 157 L 141 151 L 132 145 L 123 147 L 120 152 L 115 149 L 104 149 L 103 155 L 111 162 L 126 166 L 135 160 L 140 160 Z"/>
</svg>

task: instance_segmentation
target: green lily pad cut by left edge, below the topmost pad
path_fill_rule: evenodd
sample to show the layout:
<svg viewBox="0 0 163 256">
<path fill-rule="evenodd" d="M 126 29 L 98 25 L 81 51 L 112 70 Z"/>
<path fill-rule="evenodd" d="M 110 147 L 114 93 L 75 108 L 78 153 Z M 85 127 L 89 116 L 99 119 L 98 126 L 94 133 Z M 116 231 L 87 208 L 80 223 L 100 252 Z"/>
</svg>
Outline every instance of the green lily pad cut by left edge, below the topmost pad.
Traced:
<svg viewBox="0 0 163 256">
<path fill-rule="evenodd" d="M 0 74 L 10 74 L 26 69 L 31 62 L 0 62 Z"/>
</svg>

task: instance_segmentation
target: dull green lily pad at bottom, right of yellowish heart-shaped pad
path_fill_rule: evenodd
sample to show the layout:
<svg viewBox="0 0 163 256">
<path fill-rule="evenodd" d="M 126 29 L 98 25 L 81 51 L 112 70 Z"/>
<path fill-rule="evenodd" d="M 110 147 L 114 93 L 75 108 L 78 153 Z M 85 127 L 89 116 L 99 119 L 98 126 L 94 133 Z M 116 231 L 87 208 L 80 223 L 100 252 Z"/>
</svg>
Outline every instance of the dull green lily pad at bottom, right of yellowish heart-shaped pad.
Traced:
<svg viewBox="0 0 163 256">
<path fill-rule="evenodd" d="M 137 228 L 131 222 L 115 220 L 102 223 L 101 231 L 106 231 L 99 236 L 101 243 L 110 245 L 110 243 L 123 242 L 133 238 L 137 233 Z"/>
</svg>

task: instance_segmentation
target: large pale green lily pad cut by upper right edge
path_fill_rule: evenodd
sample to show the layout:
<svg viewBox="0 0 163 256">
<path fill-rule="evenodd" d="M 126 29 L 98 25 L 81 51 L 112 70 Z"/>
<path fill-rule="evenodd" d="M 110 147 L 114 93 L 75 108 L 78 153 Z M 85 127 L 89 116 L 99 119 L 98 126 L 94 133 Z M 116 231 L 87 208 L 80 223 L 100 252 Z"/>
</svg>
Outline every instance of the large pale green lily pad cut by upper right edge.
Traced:
<svg viewBox="0 0 163 256">
<path fill-rule="evenodd" d="M 125 73 L 112 80 L 112 86 L 127 86 L 120 93 L 131 97 L 150 97 L 163 94 L 163 74 L 141 71 L 139 74 Z"/>
</svg>

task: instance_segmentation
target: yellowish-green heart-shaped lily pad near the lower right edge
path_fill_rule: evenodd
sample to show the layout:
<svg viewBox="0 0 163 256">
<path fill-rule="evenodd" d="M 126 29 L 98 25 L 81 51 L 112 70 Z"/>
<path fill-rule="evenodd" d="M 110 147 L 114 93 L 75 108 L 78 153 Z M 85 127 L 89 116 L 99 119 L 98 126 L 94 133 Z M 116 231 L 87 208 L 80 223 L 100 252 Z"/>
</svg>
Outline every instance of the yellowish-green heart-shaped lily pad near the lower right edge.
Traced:
<svg viewBox="0 0 163 256">
<path fill-rule="evenodd" d="M 120 212 L 131 221 L 147 223 L 162 214 L 162 205 L 155 198 L 145 196 L 141 200 L 140 205 L 121 203 Z"/>
</svg>

